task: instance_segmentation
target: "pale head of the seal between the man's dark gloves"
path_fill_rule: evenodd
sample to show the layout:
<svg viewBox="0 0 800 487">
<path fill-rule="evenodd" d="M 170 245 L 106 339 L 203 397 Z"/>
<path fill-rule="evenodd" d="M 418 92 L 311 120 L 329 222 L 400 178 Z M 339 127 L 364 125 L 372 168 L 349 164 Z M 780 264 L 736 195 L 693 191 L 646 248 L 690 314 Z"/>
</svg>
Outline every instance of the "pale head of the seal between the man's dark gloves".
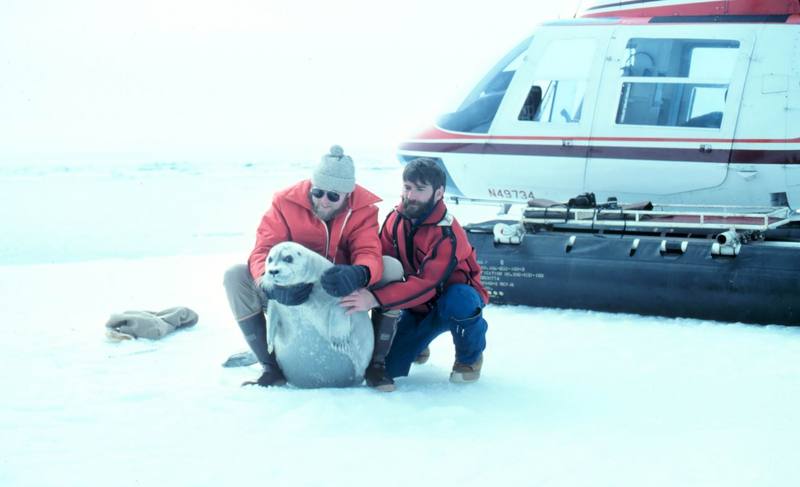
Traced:
<svg viewBox="0 0 800 487">
<path fill-rule="evenodd" d="M 267 255 L 266 273 L 262 285 L 292 286 L 314 282 L 321 271 L 313 251 L 295 242 L 282 242 L 272 247 Z M 321 256 L 316 256 L 322 259 Z M 323 259 L 324 260 L 324 259 Z"/>
</svg>

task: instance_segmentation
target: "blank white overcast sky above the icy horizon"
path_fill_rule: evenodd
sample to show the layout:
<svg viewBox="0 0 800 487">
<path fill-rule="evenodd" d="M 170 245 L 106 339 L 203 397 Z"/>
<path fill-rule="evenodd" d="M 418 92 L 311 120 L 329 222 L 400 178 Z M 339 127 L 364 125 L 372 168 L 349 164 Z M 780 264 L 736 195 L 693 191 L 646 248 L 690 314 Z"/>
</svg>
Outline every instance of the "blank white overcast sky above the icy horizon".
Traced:
<svg viewBox="0 0 800 487">
<path fill-rule="evenodd" d="M 3 0 L 0 162 L 391 152 L 567 3 Z"/>
</svg>

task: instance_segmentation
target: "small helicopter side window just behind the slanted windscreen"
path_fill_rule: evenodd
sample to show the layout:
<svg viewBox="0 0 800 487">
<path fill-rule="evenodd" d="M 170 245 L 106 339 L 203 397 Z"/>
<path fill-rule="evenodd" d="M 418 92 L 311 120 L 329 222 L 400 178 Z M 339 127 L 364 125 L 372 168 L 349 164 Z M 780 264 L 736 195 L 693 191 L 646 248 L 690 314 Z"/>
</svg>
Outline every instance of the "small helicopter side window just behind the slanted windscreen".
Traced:
<svg viewBox="0 0 800 487">
<path fill-rule="evenodd" d="M 594 57 L 593 39 L 551 42 L 536 66 L 535 80 L 517 120 L 578 123 Z"/>
</svg>

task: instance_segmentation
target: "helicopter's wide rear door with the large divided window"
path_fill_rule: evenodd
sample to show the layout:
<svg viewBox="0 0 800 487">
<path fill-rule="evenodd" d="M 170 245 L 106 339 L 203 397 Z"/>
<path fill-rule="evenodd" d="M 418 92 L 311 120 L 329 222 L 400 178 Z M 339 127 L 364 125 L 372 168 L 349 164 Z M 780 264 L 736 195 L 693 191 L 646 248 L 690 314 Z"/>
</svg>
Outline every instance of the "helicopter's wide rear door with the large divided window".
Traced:
<svg viewBox="0 0 800 487">
<path fill-rule="evenodd" d="M 747 25 L 622 26 L 609 44 L 586 190 L 658 198 L 725 180 L 753 35 Z"/>
</svg>

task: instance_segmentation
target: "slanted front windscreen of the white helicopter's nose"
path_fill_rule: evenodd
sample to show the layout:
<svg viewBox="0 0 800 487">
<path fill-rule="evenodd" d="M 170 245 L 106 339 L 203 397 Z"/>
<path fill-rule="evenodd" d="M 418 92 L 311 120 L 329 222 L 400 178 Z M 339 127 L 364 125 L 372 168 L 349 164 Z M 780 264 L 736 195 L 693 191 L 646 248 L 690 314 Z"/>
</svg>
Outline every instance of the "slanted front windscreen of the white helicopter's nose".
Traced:
<svg viewBox="0 0 800 487">
<path fill-rule="evenodd" d="M 526 39 L 506 54 L 478 83 L 458 109 L 441 116 L 437 125 L 456 132 L 488 133 L 500 108 L 500 102 L 503 101 L 517 68 L 522 64 L 531 40 L 532 38 Z"/>
</svg>

